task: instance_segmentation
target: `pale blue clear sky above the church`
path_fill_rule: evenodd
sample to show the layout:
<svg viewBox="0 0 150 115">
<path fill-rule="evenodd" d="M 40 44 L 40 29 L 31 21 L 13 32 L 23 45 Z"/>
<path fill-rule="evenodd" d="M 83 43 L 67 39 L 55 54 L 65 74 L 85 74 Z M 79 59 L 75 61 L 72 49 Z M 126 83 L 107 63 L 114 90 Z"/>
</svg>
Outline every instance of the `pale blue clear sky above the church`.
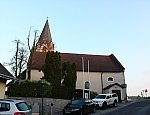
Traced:
<svg viewBox="0 0 150 115">
<path fill-rule="evenodd" d="M 59 52 L 114 54 L 125 67 L 129 96 L 150 96 L 150 0 L 2 0 L 0 63 L 10 62 L 16 44 L 30 44 L 49 20 Z M 8 70 L 9 66 L 5 66 Z"/>
</svg>

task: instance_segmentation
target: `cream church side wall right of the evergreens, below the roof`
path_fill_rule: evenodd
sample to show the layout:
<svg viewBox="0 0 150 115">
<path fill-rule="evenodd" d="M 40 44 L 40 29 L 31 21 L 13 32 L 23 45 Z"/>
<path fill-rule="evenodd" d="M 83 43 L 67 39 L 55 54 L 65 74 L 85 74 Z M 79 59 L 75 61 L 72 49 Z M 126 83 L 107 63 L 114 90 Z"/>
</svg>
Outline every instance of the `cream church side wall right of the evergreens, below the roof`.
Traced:
<svg viewBox="0 0 150 115">
<path fill-rule="evenodd" d="M 96 91 L 97 93 L 102 93 L 102 84 L 101 84 L 101 75 L 103 79 L 103 88 L 107 87 L 110 84 L 118 83 L 118 84 L 125 84 L 124 74 L 123 72 L 120 73 L 100 73 L 100 72 L 77 72 L 77 82 L 76 88 L 83 89 L 83 80 L 84 83 L 89 81 L 91 84 L 90 90 Z M 109 82 L 108 77 L 113 77 L 114 81 Z"/>
</svg>

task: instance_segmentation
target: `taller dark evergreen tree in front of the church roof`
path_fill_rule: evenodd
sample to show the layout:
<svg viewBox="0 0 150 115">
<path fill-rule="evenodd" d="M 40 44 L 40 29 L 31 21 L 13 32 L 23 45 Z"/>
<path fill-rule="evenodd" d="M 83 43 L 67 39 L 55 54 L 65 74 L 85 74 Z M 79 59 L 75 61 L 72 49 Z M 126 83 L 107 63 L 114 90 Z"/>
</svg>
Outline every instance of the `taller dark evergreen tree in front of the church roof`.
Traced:
<svg viewBox="0 0 150 115">
<path fill-rule="evenodd" d="M 56 52 L 47 52 L 45 64 L 42 68 L 45 79 L 53 86 L 61 85 L 61 57 Z"/>
</svg>

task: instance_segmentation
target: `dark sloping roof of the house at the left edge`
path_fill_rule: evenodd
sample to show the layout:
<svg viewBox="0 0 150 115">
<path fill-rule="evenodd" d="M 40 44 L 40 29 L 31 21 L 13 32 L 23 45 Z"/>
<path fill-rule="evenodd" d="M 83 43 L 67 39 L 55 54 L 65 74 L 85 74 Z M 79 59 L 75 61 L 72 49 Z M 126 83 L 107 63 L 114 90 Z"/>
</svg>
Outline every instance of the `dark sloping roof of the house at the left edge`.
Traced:
<svg viewBox="0 0 150 115">
<path fill-rule="evenodd" d="M 0 63 L 0 78 L 9 80 L 14 79 L 13 75 Z"/>
</svg>

